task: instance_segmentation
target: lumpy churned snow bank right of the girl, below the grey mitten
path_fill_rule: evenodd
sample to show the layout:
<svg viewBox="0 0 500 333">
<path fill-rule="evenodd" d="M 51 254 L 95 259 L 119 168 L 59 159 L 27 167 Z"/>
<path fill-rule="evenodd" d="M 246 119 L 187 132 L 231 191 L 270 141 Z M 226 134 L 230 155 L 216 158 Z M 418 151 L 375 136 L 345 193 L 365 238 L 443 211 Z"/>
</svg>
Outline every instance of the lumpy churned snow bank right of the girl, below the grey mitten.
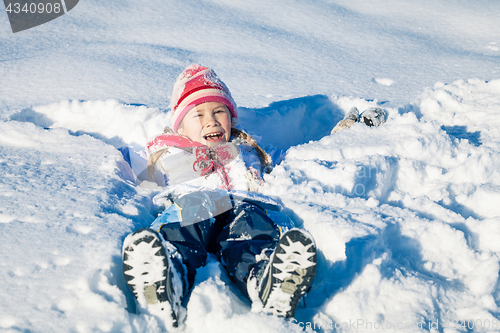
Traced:
<svg viewBox="0 0 500 333">
<path fill-rule="evenodd" d="M 264 193 L 325 258 L 307 302 L 317 311 L 300 320 L 341 331 L 498 327 L 499 84 L 438 83 L 379 128 L 290 148 Z"/>
</svg>

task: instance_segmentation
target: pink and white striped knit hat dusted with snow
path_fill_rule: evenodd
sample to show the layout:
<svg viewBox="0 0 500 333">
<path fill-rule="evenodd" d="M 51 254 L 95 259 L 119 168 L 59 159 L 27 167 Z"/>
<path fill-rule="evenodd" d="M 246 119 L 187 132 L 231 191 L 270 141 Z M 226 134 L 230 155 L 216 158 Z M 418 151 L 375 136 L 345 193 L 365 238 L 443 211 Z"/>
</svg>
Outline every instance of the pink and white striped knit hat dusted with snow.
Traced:
<svg viewBox="0 0 500 333">
<path fill-rule="evenodd" d="M 238 118 L 236 103 L 224 82 L 210 68 L 194 64 L 186 68 L 174 84 L 170 101 L 174 131 L 177 132 L 192 108 L 205 102 L 224 103 L 233 117 Z"/>
</svg>

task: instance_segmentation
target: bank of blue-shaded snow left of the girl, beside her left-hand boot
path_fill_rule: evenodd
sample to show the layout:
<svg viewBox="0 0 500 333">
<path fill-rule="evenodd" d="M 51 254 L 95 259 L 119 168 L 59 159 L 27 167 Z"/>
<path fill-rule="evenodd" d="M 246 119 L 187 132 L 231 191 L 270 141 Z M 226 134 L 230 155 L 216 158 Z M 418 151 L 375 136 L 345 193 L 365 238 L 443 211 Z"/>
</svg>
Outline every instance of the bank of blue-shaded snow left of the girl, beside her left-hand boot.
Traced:
<svg viewBox="0 0 500 333">
<path fill-rule="evenodd" d="M 119 249 L 153 217 L 118 151 L 32 123 L 0 133 L 0 328 L 130 331 Z"/>
</svg>

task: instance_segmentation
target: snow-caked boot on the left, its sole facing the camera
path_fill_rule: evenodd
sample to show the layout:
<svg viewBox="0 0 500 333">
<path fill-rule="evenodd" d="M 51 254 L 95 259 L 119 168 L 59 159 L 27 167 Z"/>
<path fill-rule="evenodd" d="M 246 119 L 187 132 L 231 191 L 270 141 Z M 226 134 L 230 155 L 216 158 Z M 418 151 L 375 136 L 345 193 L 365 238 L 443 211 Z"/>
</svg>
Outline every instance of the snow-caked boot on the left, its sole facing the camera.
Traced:
<svg viewBox="0 0 500 333">
<path fill-rule="evenodd" d="M 125 238 L 123 275 L 142 313 L 178 327 L 185 315 L 183 283 L 158 233 L 142 228 Z"/>
</svg>

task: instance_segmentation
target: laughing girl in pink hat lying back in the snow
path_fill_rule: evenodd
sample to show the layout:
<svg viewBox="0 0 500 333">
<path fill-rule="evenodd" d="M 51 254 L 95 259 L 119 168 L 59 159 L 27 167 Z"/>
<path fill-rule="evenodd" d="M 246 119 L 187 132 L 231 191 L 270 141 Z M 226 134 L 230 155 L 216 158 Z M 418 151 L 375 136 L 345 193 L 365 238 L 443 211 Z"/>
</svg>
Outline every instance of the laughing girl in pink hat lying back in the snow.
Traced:
<svg viewBox="0 0 500 333">
<path fill-rule="evenodd" d="M 262 185 L 271 159 L 234 127 L 236 104 L 209 68 L 181 73 L 171 110 L 173 131 L 149 142 L 147 175 L 139 176 L 167 186 L 153 199 L 167 208 L 123 245 L 124 276 L 140 311 L 182 323 L 196 270 L 212 256 L 253 311 L 293 317 L 316 272 L 316 246 L 278 202 L 248 192 Z"/>
</svg>

